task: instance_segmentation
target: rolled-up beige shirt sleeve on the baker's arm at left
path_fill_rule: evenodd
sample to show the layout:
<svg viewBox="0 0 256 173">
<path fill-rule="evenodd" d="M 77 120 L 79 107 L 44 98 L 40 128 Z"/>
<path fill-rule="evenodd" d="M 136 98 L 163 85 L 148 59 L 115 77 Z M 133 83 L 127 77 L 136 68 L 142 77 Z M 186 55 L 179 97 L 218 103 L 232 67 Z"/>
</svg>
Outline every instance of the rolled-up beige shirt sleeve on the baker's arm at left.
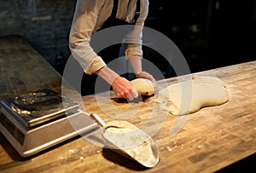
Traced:
<svg viewBox="0 0 256 173">
<path fill-rule="evenodd" d="M 77 1 L 69 35 L 72 55 L 88 74 L 106 66 L 102 58 L 90 47 L 90 36 L 95 29 L 99 13 L 96 2 Z"/>
</svg>

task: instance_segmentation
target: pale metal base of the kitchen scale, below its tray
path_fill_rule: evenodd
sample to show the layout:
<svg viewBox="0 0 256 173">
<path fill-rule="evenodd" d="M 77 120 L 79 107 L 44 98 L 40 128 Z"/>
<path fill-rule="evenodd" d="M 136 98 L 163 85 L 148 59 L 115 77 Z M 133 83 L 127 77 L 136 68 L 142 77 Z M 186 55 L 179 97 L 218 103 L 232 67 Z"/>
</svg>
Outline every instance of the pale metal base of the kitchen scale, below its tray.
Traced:
<svg viewBox="0 0 256 173">
<path fill-rule="evenodd" d="M 26 130 L 9 112 L 1 108 L 0 131 L 22 157 L 39 153 L 97 127 L 86 112 L 77 110 L 48 124 Z"/>
</svg>

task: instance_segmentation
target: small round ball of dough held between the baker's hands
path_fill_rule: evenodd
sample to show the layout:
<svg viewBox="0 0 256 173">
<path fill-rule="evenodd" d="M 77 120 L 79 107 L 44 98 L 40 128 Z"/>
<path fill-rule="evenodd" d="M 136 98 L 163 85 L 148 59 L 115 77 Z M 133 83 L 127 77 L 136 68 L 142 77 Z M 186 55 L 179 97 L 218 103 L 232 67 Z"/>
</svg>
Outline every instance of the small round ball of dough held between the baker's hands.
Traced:
<svg viewBox="0 0 256 173">
<path fill-rule="evenodd" d="M 131 85 L 140 95 L 149 96 L 154 94 L 154 84 L 146 78 L 136 78 L 131 81 Z"/>
</svg>

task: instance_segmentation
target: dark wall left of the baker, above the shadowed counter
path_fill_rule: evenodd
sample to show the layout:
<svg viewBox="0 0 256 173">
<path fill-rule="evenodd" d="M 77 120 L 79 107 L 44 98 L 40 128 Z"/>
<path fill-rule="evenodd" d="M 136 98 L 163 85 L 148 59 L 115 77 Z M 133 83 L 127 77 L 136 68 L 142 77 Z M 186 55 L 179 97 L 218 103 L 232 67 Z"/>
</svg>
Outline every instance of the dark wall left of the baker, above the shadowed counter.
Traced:
<svg viewBox="0 0 256 173">
<path fill-rule="evenodd" d="M 0 0 L 0 36 L 25 37 L 53 66 L 68 54 L 75 0 Z"/>
</svg>

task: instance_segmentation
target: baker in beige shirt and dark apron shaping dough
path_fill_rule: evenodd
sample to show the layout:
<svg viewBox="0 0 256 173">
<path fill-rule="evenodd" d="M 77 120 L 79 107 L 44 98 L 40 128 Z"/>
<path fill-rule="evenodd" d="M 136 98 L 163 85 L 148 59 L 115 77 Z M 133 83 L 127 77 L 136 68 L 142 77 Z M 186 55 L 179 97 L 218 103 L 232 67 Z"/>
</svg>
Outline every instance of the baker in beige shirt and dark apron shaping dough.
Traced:
<svg viewBox="0 0 256 173">
<path fill-rule="evenodd" d="M 107 66 L 102 55 L 96 54 L 90 46 L 90 38 L 106 27 L 134 25 L 136 31 L 125 35 L 125 40 L 130 40 L 125 43 L 125 58 L 136 78 L 147 78 L 156 86 L 154 77 L 142 68 L 142 32 L 147 15 L 148 0 L 78 0 L 70 30 L 69 47 L 84 72 L 100 76 L 112 86 L 115 95 L 130 101 L 138 97 L 137 91 L 127 78 Z"/>
</svg>

